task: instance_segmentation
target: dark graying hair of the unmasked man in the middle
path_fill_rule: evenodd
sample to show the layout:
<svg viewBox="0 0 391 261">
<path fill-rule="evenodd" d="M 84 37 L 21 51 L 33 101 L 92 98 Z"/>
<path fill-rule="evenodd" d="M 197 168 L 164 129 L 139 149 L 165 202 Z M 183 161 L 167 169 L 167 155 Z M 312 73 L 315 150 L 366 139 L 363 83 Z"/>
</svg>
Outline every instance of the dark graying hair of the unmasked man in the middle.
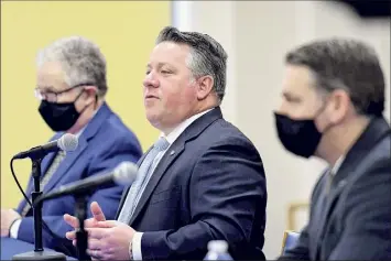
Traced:
<svg viewBox="0 0 391 261">
<path fill-rule="evenodd" d="M 181 32 L 176 28 L 166 26 L 158 36 L 156 44 L 161 42 L 188 45 L 191 56 L 187 66 L 193 77 L 210 76 L 214 79 L 213 90 L 217 94 L 219 102 L 222 101 L 226 91 L 228 55 L 215 39 L 207 34 Z"/>
</svg>

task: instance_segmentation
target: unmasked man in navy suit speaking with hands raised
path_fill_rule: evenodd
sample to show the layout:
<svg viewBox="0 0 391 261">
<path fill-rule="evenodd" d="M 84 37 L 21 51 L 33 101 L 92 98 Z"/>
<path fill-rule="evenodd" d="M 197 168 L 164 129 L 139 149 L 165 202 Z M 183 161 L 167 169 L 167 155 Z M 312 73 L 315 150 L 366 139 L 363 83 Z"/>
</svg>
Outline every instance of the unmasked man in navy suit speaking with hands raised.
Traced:
<svg viewBox="0 0 391 261">
<path fill-rule="evenodd" d="M 100 221 L 91 205 L 93 258 L 199 260 L 210 240 L 226 240 L 233 259 L 264 260 L 264 170 L 254 145 L 222 118 L 226 59 L 206 34 L 161 32 L 143 81 L 146 118 L 161 139 L 140 161 L 116 221 Z"/>
</svg>

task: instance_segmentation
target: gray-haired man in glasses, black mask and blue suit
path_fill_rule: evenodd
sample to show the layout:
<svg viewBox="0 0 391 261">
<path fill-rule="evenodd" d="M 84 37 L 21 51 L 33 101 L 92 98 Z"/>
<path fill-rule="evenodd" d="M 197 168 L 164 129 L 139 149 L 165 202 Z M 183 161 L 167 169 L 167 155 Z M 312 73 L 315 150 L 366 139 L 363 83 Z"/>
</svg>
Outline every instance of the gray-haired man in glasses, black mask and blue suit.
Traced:
<svg viewBox="0 0 391 261">
<path fill-rule="evenodd" d="M 42 161 L 43 193 L 109 172 L 122 161 L 135 163 L 141 157 L 137 137 L 105 101 L 106 62 L 94 43 L 83 37 L 67 37 L 44 48 L 37 59 L 36 86 L 36 98 L 41 100 L 39 111 L 56 132 L 51 140 L 58 139 L 65 132 L 78 137 L 77 150 L 66 154 L 63 151 L 51 153 Z M 31 177 L 26 195 L 30 196 L 32 191 Z M 122 192 L 122 186 L 97 191 L 90 200 L 99 202 L 106 215 L 115 218 Z M 63 219 L 63 215 L 74 213 L 74 208 L 72 196 L 43 204 L 43 220 L 50 229 L 43 230 L 44 247 L 67 254 L 67 250 L 74 249 L 64 237 L 70 227 Z M 34 242 L 32 215 L 25 199 L 21 200 L 17 210 L 2 209 L 1 236 Z M 68 243 L 69 249 L 58 249 L 62 242 Z"/>
</svg>

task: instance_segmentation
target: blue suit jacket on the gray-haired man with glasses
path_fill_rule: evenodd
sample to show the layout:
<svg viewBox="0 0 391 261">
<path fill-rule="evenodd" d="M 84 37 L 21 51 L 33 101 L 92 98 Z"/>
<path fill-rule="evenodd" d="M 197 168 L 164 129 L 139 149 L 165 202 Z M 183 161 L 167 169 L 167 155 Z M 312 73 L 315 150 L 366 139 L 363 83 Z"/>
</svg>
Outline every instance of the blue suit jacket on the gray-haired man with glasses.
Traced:
<svg viewBox="0 0 391 261">
<path fill-rule="evenodd" d="M 51 140 L 58 139 L 64 133 L 56 133 Z M 45 173 L 54 157 L 51 153 L 42 161 L 42 173 Z M 90 120 L 82 135 L 78 138 L 78 146 L 73 152 L 67 152 L 66 157 L 59 164 L 43 189 L 48 193 L 70 182 L 76 182 L 85 177 L 109 172 L 122 161 L 137 162 L 142 155 L 141 146 L 137 137 L 122 123 L 122 121 L 104 104 Z M 33 191 L 33 180 L 30 178 L 26 195 Z M 89 198 L 89 203 L 96 200 L 102 207 L 107 218 L 115 218 L 121 194 L 122 186 L 96 191 Z M 21 200 L 18 211 L 21 213 L 25 199 Z M 89 204 L 88 204 L 89 206 Z M 64 214 L 73 214 L 75 210 L 75 199 L 73 196 L 65 196 L 44 202 L 42 215 L 44 221 L 58 237 L 65 239 L 65 232 L 73 230 L 64 219 Z M 19 227 L 18 239 L 26 242 L 34 242 L 34 220 L 30 210 L 22 219 Z M 88 211 L 90 216 L 90 211 Z M 47 248 L 56 249 L 59 242 L 55 240 L 45 229 L 43 229 L 43 244 Z M 72 248 L 72 243 L 69 246 Z M 63 251 L 63 249 L 58 249 Z M 70 249 L 68 249 L 70 250 Z"/>
</svg>

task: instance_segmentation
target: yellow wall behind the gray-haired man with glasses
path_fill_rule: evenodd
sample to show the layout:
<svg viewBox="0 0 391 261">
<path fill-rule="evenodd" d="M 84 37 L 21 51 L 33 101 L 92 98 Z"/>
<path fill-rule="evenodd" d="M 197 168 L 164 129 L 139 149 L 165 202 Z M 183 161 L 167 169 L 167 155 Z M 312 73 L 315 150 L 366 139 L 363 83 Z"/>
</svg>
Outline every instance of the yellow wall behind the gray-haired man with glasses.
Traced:
<svg viewBox="0 0 391 261">
<path fill-rule="evenodd" d="M 95 41 L 107 58 L 107 100 L 145 150 L 159 132 L 144 116 L 144 66 L 170 17 L 164 1 L 1 1 L 1 207 L 15 207 L 22 198 L 10 171 L 12 155 L 53 134 L 33 93 L 37 50 L 75 34 Z M 24 188 L 31 162 L 17 161 L 14 170 Z"/>
</svg>

